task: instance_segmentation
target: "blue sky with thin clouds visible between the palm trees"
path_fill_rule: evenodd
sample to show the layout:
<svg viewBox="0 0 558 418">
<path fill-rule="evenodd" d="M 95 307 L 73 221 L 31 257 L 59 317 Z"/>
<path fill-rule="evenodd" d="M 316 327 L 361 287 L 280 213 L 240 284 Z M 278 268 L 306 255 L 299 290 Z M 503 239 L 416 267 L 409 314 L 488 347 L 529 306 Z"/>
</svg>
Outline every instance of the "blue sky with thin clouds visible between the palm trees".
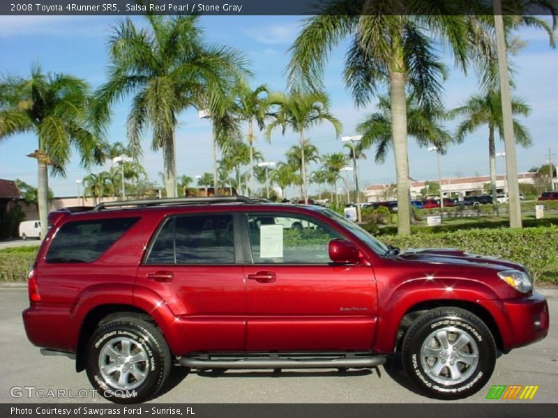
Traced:
<svg viewBox="0 0 558 418">
<path fill-rule="evenodd" d="M 19 75 L 29 77 L 33 63 L 39 63 L 45 72 L 63 72 L 85 79 L 92 88 L 105 82 L 107 70 L 107 39 L 114 25 L 123 17 L 93 16 L 0 16 L 0 76 Z M 133 17 L 138 24 L 141 17 Z M 302 17 L 296 16 L 204 16 L 201 17 L 205 38 L 208 42 L 234 47 L 250 60 L 254 77 L 250 84 L 267 84 L 273 91 L 285 91 L 285 67 L 289 62 L 289 46 L 299 33 Z M 515 82 L 514 95 L 523 98 L 531 106 L 531 114 L 522 118 L 533 139 L 529 148 L 518 148 L 518 169 L 527 171 L 548 162 L 548 148 L 558 153 L 558 50 L 548 45 L 548 36 L 543 31 L 522 29 L 518 35 L 527 41 L 513 58 Z M 329 57 L 324 75 L 324 86 L 331 98 L 331 112 L 340 119 L 343 134 L 354 134 L 356 125 L 366 115 L 375 111 L 375 102 L 364 108 L 356 108 L 342 82 L 342 65 L 346 52 L 342 42 Z M 464 75 L 453 68 L 453 57 L 443 54 L 451 69 L 444 83 L 446 107 L 463 104 L 469 95 L 478 92 L 473 72 Z M 130 98 L 114 107 L 114 117 L 108 130 L 110 142 L 126 142 L 126 116 Z M 457 121 L 446 123 L 453 132 Z M 327 123 L 319 125 L 307 134 L 321 154 L 342 151 L 342 143 L 335 137 L 333 127 Z M 273 132 L 271 143 L 258 132 L 256 148 L 266 161 L 285 160 L 285 152 L 298 143 L 298 137 L 287 131 Z M 142 142 L 144 165 L 151 180 L 160 183 L 158 173 L 163 171 L 162 154 L 150 148 L 151 138 L 146 133 Z M 26 157 L 36 149 L 37 139 L 33 134 L 17 134 L 0 141 L 0 178 L 19 178 L 31 185 L 37 184 L 36 160 Z M 504 150 L 503 141 L 498 141 L 497 152 Z M 378 183 L 395 183 L 393 153 L 386 162 L 377 165 L 373 151 L 368 150 L 367 160 L 359 162 L 361 187 Z M 557 162 L 556 156 L 553 157 Z M 66 167 L 66 178 L 50 178 L 50 187 L 55 196 L 75 196 L 76 180 L 88 173 L 79 164 L 79 156 L 73 153 Z M 199 119 L 197 111 L 190 109 L 179 116 L 176 132 L 176 160 L 178 175 L 194 178 L 212 170 L 211 125 Z M 419 148 L 409 138 L 409 165 L 411 177 L 416 180 L 438 178 L 436 156 L 425 148 Z M 97 173 L 107 169 L 93 167 Z M 488 127 L 481 127 L 470 134 L 463 144 L 453 145 L 441 159 L 442 176 L 474 176 L 488 174 Z M 312 164 L 310 169 L 317 168 Z M 504 173 L 504 160 L 497 161 L 497 171 Z"/>
</svg>

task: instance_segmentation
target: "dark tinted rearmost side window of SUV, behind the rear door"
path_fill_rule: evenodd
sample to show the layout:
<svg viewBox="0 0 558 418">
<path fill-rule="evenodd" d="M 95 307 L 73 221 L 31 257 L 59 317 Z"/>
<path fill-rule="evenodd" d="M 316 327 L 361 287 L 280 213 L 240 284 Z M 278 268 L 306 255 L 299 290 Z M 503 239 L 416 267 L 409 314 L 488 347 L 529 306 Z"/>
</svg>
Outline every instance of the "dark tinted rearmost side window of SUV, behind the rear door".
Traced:
<svg viewBox="0 0 558 418">
<path fill-rule="evenodd" d="M 137 222 L 137 217 L 63 224 L 47 253 L 47 263 L 89 263 L 102 256 Z"/>
</svg>

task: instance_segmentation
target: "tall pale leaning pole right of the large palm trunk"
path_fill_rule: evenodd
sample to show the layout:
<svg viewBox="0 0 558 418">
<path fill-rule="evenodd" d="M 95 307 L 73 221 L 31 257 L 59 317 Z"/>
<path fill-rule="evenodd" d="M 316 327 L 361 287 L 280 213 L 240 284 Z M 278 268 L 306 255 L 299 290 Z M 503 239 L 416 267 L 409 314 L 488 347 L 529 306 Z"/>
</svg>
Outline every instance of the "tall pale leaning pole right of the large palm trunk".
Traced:
<svg viewBox="0 0 558 418">
<path fill-rule="evenodd" d="M 506 178 L 508 179 L 508 205 L 510 227 L 521 228 L 521 206 L 519 199 L 518 162 L 515 156 L 515 137 L 511 114 L 510 83 L 508 77 L 508 60 L 504 39 L 504 20 L 502 19 L 502 0 L 494 0 L 494 23 L 498 49 L 498 69 L 500 75 L 500 92 L 502 95 L 502 118 L 504 119 L 504 144 L 506 146 Z"/>
</svg>

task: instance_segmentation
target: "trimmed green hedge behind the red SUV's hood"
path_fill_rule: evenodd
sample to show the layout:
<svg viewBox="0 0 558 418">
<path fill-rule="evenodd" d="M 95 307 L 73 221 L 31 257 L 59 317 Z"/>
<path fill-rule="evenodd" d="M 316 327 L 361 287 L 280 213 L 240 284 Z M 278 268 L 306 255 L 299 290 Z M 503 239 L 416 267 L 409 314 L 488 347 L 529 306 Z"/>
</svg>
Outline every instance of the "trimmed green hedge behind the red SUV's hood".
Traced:
<svg viewBox="0 0 558 418">
<path fill-rule="evenodd" d="M 474 254 L 506 258 L 525 265 L 535 280 L 558 261 L 556 226 L 386 235 L 382 236 L 382 241 L 401 249 L 450 247 Z"/>
</svg>

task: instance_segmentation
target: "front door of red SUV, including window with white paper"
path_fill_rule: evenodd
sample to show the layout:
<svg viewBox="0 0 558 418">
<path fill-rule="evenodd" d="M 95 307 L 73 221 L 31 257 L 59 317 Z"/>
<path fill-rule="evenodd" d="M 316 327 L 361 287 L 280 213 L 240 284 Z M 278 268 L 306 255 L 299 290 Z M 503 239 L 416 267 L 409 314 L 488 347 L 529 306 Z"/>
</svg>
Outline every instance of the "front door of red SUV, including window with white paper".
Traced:
<svg viewBox="0 0 558 418">
<path fill-rule="evenodd" d="M 299 215 L 248 215 L 247 350 L 369 350 L 377 322 L 369 265 L 333 265 L 342 238 Z"/>
</svg>

